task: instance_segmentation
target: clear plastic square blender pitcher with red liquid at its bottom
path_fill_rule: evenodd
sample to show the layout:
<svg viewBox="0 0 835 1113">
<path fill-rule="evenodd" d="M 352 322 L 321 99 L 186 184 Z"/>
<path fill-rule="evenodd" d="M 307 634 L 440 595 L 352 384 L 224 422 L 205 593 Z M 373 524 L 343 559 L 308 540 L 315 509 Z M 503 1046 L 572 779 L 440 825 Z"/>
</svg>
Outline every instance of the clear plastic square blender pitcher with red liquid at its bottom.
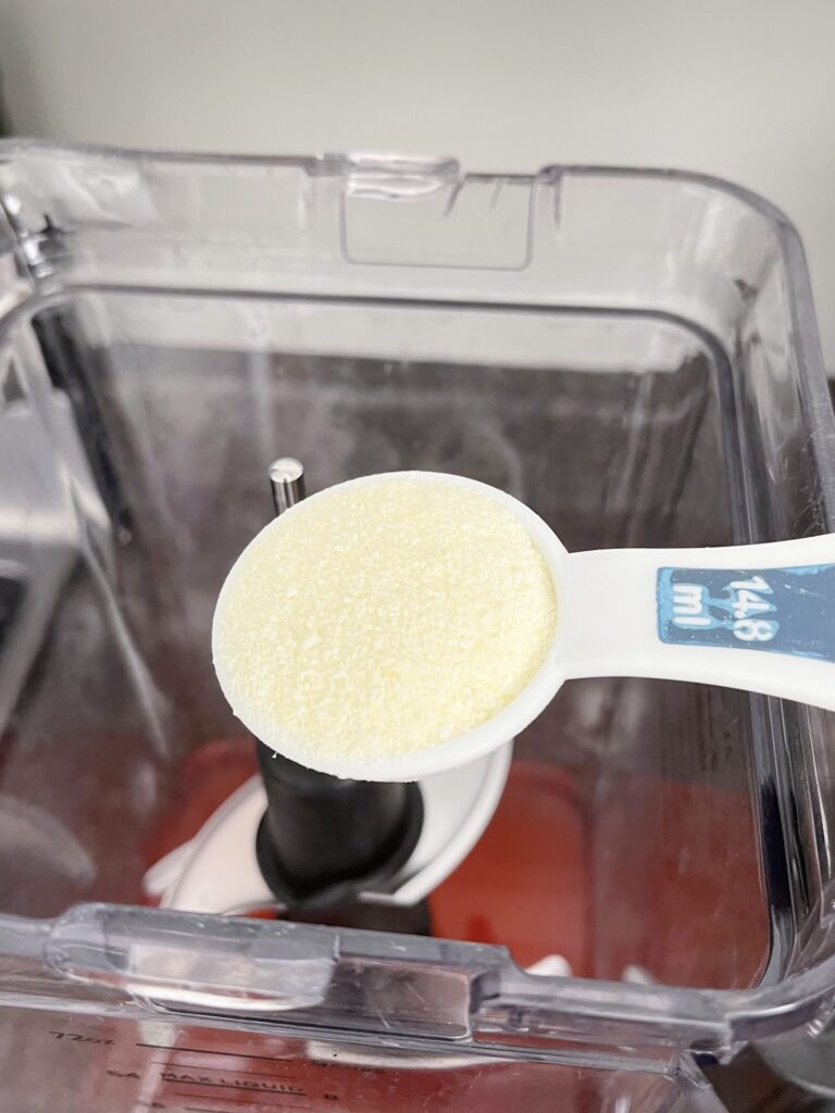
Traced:
<svg viewBox="0 0 835 1113">
<path fill-rule="evenodd" d="M 209 626 L 276 455 L 482 480 L 571 550 L 835 529 L 785 218 L 657 171 L 16 142 L 0 201 L 10 1107 L 715 1109 L 698 1063 L 824 1032 L 835 727 L 764 697 L 567 683 L 431 935 L 144 884 L 254 772 Z"/>
</svg>

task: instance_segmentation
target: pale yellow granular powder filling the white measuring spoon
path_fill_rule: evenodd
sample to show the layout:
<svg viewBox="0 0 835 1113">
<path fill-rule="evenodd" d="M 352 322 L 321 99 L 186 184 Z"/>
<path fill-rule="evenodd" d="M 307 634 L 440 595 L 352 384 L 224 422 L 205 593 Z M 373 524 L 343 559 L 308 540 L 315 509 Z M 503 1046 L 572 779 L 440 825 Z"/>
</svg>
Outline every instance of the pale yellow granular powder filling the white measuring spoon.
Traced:
<svg viewBox="0 0 835 1113">
<path fill-rule="evenodd" d="M 539 669 L 553 581 L 514 514 L 381 479 L 272 522 L 229 574 L 213 649 L 233 709 L 296 755 L 405 755 L 483 723 Z"/>
</svg>

